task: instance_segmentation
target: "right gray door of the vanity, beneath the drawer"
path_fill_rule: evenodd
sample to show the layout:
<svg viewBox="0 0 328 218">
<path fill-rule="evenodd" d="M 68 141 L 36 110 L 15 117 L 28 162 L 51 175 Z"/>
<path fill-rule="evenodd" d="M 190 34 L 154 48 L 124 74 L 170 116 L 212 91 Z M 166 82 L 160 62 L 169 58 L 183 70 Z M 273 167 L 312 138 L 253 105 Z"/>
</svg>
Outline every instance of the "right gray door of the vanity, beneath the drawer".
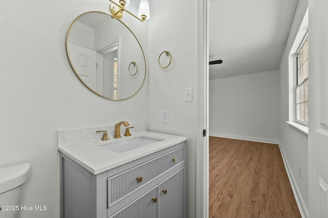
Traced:
<svg viewBox="0 0 328 218">
<path fill-rule="evenodd" d="M 159 184 L 159 218 L 185 217 L 184 196 L 185 168 L 181 168 L 167 180 Z"/>
</svg>

